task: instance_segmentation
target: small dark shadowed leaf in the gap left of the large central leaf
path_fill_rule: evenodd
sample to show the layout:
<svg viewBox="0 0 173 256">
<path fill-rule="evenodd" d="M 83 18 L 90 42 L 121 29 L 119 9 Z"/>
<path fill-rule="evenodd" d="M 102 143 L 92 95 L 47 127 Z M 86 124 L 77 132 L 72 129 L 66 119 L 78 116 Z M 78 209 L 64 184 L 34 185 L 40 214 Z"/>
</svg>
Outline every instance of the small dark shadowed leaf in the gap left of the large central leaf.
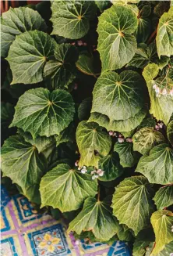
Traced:
<svg viewBox="0 0 173 256">
<path fill-rule="evenodd" d="M 87 120 L 90 117 L 90 110 L 92 106 L 92 99 L 90 97 L 83 99 L 78 107 L 79 121 Z"/>
</svg>

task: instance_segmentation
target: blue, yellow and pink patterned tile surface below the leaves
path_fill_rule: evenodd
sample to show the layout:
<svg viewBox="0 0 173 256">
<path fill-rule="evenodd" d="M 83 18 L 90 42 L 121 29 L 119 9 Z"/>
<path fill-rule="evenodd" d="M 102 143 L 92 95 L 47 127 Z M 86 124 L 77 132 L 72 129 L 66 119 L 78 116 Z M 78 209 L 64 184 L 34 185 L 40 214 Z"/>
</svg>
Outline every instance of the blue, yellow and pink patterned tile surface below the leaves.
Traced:
<svg viewBox="0 0 173 256">
<path fill-rule="evenodd" d="M 22 195 L 12 198 L 2 186 L 1 256 L 130 256 L 125 243 L 79 244 L 65 225 L 37 211 Z"/>
</svg>

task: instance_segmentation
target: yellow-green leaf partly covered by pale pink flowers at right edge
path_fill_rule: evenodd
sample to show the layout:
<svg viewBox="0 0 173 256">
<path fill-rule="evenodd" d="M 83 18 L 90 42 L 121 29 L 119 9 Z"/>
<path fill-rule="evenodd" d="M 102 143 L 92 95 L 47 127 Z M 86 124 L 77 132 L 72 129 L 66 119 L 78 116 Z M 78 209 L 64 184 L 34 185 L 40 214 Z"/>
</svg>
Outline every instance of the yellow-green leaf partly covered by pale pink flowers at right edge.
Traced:
<svg viewBox="0 0 173 256">
<path fill-rule="evenodd" d="M 150 95 L 150 114 L 153 114 L 157 120 L 164 121 L 164 124 L 168 124 L 171 114 L 173 113 L 173 97 L 171 95 L 157 97 L 157 94 L 153 88 L 154 78 L 157 77 L 159 67 L 152 63 L 148 64 L 143 70 L 143 77 L 147 81 L 147 87 Z"/>
</svg>

